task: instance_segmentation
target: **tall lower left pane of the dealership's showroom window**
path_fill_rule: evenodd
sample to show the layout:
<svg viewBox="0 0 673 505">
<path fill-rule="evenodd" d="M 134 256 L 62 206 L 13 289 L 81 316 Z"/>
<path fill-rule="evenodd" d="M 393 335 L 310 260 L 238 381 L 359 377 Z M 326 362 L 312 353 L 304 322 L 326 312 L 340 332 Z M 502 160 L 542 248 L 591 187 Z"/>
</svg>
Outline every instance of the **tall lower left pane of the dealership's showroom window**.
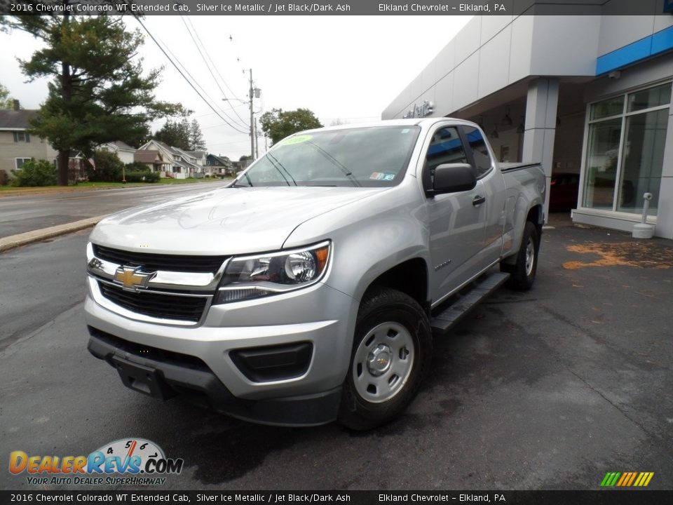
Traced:
<svg viewBox="0 0 673 505">
<path fill-rule="evenodd" d="M 584 207 L 613 208 L 621 130 L 621 118 L 589 126 Z"/>
</svg>

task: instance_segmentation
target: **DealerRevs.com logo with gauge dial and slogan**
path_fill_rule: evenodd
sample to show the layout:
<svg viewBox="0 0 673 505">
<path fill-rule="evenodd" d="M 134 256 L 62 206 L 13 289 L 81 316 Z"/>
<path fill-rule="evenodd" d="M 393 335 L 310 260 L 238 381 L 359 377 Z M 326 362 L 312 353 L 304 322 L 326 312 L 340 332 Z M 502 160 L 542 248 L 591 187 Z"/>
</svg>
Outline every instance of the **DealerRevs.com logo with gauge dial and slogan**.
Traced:
<svg viewBox="0 0 673 505">
<path fill-rule="evenodd" d="M 88 456 L 9 454 L 9 471 L 27 473 L 32 485 L 161 485 L 166 475 L 182 471 L 184 460 L 165 457 L 151 440 L 123 438 Z"/>
</svg>

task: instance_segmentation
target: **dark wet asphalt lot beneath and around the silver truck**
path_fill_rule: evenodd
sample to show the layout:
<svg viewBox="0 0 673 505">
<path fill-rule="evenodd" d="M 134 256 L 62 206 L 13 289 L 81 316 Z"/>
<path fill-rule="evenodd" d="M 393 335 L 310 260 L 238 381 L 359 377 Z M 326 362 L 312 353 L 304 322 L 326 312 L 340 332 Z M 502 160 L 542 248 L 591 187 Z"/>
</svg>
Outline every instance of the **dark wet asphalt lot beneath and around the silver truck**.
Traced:
<svg viewBox="0 0 673 505">
<path fill-rule="evenodd" d="M 609 471 L 671 489 L 673 244 L 550 224 L 533 290 L 503 288 L 435 339 L 407 414 L 367 433 L 257 426 L 125 389 L 86 351 L 88 232 L 8 251 L 0 454 L 147 438 L 184 459 L 162 489 L 598 489 Z M 8 471 L 0 487 L 32 488 Z"/>
</svg>

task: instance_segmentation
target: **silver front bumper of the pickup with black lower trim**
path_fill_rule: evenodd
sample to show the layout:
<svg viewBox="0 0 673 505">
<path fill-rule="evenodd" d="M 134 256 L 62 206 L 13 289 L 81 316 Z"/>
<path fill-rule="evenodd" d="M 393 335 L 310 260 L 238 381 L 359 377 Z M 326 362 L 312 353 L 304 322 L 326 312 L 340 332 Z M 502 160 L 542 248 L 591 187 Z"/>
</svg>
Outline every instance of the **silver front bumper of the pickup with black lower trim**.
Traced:
<svg viewBox="0 0 673 505">
<path fill-rule="evenodd" d="M 137 321 L 117 314 L 109 304 L 103 307 L 96 301 L 100 297 L 97 283 L 89 278 L 89 350 L 116 368 L 122 360 L 122 365 L 128 361 L 157 370 L 165 394 L 144 392 L 164 398 L 197 393 L 215 410 L 270 424 L 324 424 L 336 418 L 358 310 L 348 295 L 318 283 L 283 295 L 212 306 L 203 322 L 191 327 Z M 232 359 L 241 349 L 301 343 L 311 345 L 311 357 L 297 377 L 256 381 Z"/>
</svg>

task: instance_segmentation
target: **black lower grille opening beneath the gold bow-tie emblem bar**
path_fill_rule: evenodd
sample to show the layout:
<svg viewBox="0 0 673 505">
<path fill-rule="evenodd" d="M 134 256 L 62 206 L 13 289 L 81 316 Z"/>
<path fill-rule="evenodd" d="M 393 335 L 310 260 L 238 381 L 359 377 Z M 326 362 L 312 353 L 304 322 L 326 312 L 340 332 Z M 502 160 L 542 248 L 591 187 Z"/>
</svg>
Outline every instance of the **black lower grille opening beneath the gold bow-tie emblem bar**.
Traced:
<svg viewBox="0 0 673 505">
<path fill-rule="evenodd" d="M 161 319 L 198 322 L 205 309 L 206 297 L 161 295 L 155 292 L 130 292 L 99 282 L 100 292 L 111 302 L 137 314 Z"/>
</svg>

